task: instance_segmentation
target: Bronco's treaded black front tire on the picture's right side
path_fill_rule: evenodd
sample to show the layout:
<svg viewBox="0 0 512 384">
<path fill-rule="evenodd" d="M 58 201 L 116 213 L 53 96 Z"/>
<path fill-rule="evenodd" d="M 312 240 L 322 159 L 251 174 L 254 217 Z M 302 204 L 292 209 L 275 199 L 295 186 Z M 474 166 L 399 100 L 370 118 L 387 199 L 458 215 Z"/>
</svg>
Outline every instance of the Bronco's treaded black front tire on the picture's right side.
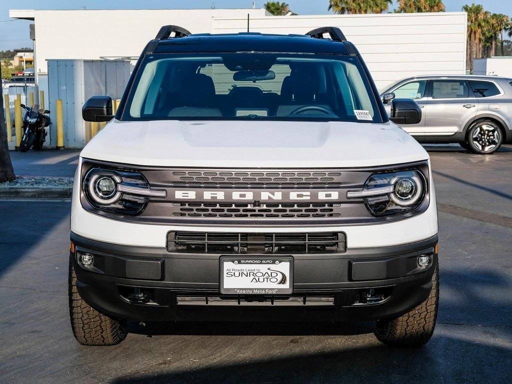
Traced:
<svg viewBox="0 0 512 384">
<path fill-rule="evenodd" d="M 392 347 L 420 347 L 427 343 L 436 326 L 439 302 L 439 269 L 436 263 L 429 298 L 395 319 L 379 320 L 375 336 Z"/>
</svg>

